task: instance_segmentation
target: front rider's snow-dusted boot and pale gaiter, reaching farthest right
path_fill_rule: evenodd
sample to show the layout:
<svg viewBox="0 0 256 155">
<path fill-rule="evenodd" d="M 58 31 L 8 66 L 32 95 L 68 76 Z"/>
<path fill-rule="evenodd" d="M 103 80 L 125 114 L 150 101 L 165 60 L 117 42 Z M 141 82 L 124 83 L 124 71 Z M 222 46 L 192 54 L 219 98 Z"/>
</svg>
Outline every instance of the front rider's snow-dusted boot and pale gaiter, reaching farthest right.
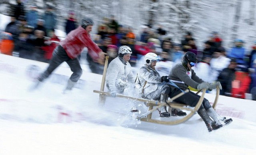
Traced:
<svg viewBox="0 0 256 155">
<path fill-rule="evenodd" d="M 218 113 L 216 113 L 216 111 L 212 107 L 207 109 L 206 112 L 210 117 L 212 117 L 214 121 L 216 121 L 216 123 L 219 123 L 222 125 L 228 125 L 233 121 L 232 118 L 226 119 L 226 117 L 220 116 Z"/>
</svg>

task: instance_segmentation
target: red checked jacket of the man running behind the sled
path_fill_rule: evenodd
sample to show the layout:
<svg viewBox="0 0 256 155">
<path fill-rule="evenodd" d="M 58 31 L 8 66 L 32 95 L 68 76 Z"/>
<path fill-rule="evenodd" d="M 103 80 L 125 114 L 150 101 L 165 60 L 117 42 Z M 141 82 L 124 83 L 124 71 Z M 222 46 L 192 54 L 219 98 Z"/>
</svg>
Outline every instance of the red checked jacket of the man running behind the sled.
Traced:
<svg viewBox="0 0 256 155">
<path fill-rule="evenodd" d="M 88 52 L 96 52 L 97 54 L 102 50 L 90 39 L 90 34 L 79 26 L 75 30 L 68 33 L 68 36 L 65 40 L 60 42 L 60 45 L 66 50 L 68 56 L 71 59 L 76 58 L 81 54 L 82 50 L 87 47 Z M 96 60 L 98 55 L 94 55 L 94 60 Z"/>
</svg>

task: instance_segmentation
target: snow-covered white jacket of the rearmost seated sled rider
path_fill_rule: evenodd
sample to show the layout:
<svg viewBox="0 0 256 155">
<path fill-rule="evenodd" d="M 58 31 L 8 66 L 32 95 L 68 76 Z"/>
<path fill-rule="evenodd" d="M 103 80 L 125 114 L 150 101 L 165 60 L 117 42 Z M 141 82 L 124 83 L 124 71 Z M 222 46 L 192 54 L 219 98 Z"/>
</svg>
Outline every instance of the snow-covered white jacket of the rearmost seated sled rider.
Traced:
<svg viewBox="0 0 256 155">
<path fill-rule="evenodd" d="M 130 83 L 134 83 L 135 81 L 130 63 L 127 62 L 126 64 L 124 64 L 120 57 L 116 57 L 114 60 L 110 62 L 108 66 L 106 74 L 106 83 L 108 83 L 110 91 L 120 91 L 116 87 L 117 79 L 121 79 L 124 82 L 128 81 Z"/>
</svg>

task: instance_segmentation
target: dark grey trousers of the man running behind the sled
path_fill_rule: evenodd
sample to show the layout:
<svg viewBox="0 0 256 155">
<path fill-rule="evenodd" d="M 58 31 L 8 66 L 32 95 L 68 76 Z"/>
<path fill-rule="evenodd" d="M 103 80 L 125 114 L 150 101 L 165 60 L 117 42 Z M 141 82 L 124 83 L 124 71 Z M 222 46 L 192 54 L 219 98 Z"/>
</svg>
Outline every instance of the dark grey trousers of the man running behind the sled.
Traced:
<svg viewBox="0 0 256 155">
<path fill-rule="evenodd" d="M 62 48 L 60 45 L 54 49 L 48 68 L 38 77 L 38 80 L 43 81 L 44 79 L 48 78 L 48 76 L 50 76 L 50 74 L 52 74 L 52 72 L 58 66 L 60 66 L 62 62 L 66 62 L 73 72 L 73 74 L 70 76 L 70 80 L 77 82 L 82 76 L 82 68 L 80 66 L 79 60 L 78 58 L 69 58 L 64 48 Z"/>
</svg>

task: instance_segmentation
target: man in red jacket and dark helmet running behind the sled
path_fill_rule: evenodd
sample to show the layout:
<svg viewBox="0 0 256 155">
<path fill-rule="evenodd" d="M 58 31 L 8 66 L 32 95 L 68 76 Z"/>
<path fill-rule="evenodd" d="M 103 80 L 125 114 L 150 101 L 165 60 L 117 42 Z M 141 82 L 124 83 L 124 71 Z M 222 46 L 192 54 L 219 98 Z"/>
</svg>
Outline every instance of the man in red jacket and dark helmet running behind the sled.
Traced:
<svg viewBox="0 0 256 155">
<path fill-rule="evenodd" d="M 33 89 L 37 88 L 44 79 L 48 78 L 62 62 L 66 62 L 73 74 L 70 76 L 63 92 L 65 93 L 67 90 L 71 90 L 82 76 L 82 68 L 77 56 L 81 54 L 85 47 L 88 48 L 89 53 L 97 53 L 96 55 L 94 54 L 94 61 L 105 58 L 104 52 L 90 39 L 90 32 L 92 31 L 93 25 L 94 22 L 90 18 L 83 19 L 81 26 L 71 31 L 66 39 L 60 42 L 60 45 L 54 50 L 48 68 L 37 78 L 38 81 Z"/>
</svg>

